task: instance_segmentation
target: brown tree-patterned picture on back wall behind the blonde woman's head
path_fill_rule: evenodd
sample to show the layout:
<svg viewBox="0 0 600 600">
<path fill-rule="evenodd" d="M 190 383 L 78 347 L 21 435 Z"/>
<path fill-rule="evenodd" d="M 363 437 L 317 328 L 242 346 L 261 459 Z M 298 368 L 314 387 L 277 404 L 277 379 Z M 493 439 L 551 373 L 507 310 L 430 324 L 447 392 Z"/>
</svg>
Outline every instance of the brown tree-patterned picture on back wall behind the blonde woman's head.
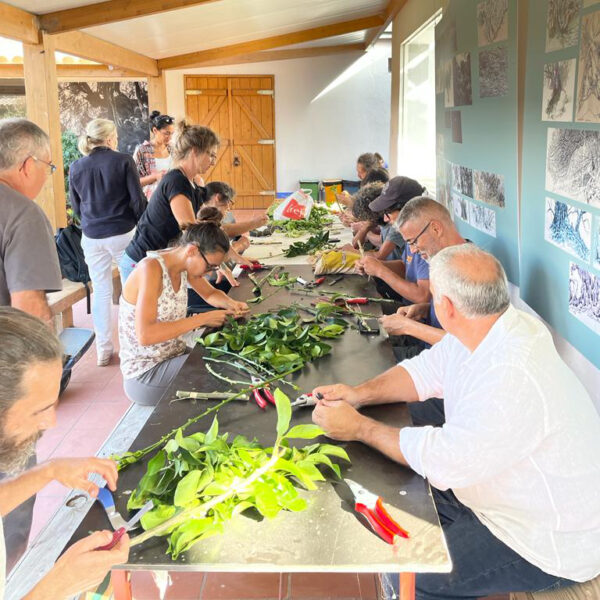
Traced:
<svg viewBox="0 0 600 600">
<path fill-rule="evenodd" d="M 133 154 L 148 139 L 148 84 L 145 81 L 69 81 L 58 84 L 60 123 L 79 136 L 93 119 L 117 126 L 119 150 Z"/>
</svg>

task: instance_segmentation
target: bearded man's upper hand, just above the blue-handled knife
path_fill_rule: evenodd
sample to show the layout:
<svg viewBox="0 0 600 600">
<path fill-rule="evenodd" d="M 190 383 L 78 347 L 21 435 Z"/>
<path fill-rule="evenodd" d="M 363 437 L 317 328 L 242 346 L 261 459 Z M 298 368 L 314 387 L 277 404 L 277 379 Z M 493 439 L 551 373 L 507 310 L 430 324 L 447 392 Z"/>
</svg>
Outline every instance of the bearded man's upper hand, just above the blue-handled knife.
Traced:
<svg viewBox="0 0 600 600">
<path fill-rule="evenodd" d="M 55 458 L 47 463 L 48 475 L 51 479 L 71 489 L 87 492 L 95 498 L 98 486 L 88 480 L 92 473 L 98 473 L 106 480 L 108 487 L 114 492 L 117 489 L 117 464 L 107 458 Z"/>
</svg>

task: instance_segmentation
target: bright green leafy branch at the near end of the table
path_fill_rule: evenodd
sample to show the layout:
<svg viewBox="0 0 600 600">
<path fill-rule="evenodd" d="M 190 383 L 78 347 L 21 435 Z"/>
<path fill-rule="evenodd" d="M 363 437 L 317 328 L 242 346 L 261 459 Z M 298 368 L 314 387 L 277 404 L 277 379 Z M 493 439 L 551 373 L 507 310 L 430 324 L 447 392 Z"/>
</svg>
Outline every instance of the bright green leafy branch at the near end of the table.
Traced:
<svg viewBox="0 0 600 600">
<path fill-rule="evenodd" d="M 224 531 L 235 515 L 255 510 L 272 519 L 282 510 L 302 511 L 307 500 L 296 486 L 317 489 L 326 466 L 337 477 L 340 468 L 331 457 L 349 461 L 346 451 L 330 444 L 293 448 L 290 439 L 311 440 L 322 435 L 316 425 L 290 428 L 288 397 L 275 392 L 277 437 L 272 448 L 237 436 L 219 435 L 215 417 L 206 433 L 183 437 L 178 430 L 148 463 L 144 477 L 132 493 L 129 509 L 153 500 L 155 508 L 142 517 L 145 532 L 131 541 L 136 546 L 154 536 L 169 536 L 173 559 L 201 539 Z"/>
</svg>

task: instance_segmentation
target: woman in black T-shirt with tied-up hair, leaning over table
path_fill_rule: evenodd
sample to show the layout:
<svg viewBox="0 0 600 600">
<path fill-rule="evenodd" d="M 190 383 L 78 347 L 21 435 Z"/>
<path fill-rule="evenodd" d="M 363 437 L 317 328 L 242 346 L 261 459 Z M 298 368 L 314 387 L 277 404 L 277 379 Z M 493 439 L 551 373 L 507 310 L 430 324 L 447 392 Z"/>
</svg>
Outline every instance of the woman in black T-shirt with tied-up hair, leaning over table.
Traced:
<svg viewBox="0 0 600 600">
<path fill-rule="evenodd" d="M 162 250 L 181 233 L 181 226 L 194 223 L 204 202 L 205 190 L 193 179 L 206 173 L 217 160 L 219 138 L 208 127 L 177 125 L 171 150 L 171 170 L 160 180 L 152 194 L 148 209 L 140 219 L 133 240 L 119 263 L 121 279 L 125 281 L 146 252 Z"/>
</svg>

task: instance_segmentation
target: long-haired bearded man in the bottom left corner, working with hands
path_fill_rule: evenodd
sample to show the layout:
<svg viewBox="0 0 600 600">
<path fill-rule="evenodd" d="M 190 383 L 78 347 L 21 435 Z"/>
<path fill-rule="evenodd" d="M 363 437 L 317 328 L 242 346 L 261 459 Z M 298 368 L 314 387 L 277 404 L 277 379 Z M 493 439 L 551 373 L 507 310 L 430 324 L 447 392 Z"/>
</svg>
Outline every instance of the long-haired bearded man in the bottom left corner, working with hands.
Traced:
<svg viewBox="0 0 600 600">
<path fill-rule="evenodd" d="M 98 473 L 110 489 L 116 489 L 117 467 L 107 459 L 59 458 L 23 472 L 41 433 L 56 424 L 62 352 L 60 341 L 40 319 L 15 308 L 0 308 L 0 468 L 14 474 L 0 483 L 2 517 L 51 481 L 96 496 L 98 486 L 88 476 Z M 98 585 L 129 555 L 127 535 L 113 549 L 97 550 L 111 539 L 110 531 L 97 531 L 73 544 L 25 600 L 62 600 Z M 4 543 L 0 519 L 0 598 L 5 587 Z"/>
</svg>

